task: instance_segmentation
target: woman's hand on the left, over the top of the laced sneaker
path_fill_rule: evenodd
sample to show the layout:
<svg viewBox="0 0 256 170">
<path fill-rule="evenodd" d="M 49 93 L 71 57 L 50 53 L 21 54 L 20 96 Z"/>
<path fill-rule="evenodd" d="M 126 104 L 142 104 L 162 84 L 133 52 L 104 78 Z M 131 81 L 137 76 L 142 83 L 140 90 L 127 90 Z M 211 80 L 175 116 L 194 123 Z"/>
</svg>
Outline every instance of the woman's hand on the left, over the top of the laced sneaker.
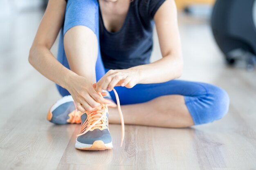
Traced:
<svg viewBox="0 0 256 170">
<path fill-rule="evenodd" d="M 95 90 L 95 85 L 88 82 L 85 77 L 75 75 L 70 78 L 67 84 L 67 91 L 72 95 L 76 108 L 84 113 L 85 111 L 93 110 L 101 104 L 110 104 L 111 101 L 104 99 Z M 101 93 L 103 96 L 106 92 Z"/>
</svg>

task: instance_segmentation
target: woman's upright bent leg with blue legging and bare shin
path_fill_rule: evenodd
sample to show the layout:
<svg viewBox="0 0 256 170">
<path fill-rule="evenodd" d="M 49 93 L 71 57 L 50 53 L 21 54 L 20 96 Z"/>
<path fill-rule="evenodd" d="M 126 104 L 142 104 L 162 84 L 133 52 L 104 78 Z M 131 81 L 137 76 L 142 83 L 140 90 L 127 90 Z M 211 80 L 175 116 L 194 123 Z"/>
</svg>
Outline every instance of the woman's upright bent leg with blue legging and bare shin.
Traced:
<svg viewBox="0 0 256 170">
<path fill-rule="evenodd" d="M 57 57 L 65 67 L 92 83 L 105 74 L 99 50 L 98 10 L 97 0 L 68 1 Z M 61 86 L 57 88 L 62 96 L 70 95 Z"/>
</svg>

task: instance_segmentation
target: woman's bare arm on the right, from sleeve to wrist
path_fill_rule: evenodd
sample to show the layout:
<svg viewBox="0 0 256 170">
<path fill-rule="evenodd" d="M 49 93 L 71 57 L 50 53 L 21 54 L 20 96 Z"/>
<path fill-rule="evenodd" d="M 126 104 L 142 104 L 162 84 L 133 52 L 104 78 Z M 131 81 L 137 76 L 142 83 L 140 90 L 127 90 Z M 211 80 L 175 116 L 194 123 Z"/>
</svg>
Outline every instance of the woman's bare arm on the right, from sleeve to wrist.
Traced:
<svg viewBox="0 0 256 170">
<path fill-rule="evenodd" d="M 141 84 L 166 82 L 182 75 L 183 60 L 180 33 L 177 24 L 177 9 L 174 0 L 166 0 L 154 16 L 162 59 L 135 66 Z"/>
</svg>

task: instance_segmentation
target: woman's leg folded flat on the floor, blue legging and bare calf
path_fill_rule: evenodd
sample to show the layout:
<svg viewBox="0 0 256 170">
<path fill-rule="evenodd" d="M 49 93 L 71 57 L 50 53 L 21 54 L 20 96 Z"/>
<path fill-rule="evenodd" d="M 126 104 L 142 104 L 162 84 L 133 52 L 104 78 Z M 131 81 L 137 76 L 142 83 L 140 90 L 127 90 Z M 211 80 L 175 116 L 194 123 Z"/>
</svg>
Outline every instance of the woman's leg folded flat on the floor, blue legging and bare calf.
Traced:
<svg viewBox="0 0 256 170">
<path fill-rule="evenodd" d="M 224 90 L 201 82 L 171 80 L 115 89 L 123 104 L 126 124 L 189 127 L 221 119 L 229 107 L 229 97 Z M 110 94 L 115 99 L 112 92 Z M 110 123 L 120 123 L 117 109 L 109 108 L 109 112 Z"/>
</svg>

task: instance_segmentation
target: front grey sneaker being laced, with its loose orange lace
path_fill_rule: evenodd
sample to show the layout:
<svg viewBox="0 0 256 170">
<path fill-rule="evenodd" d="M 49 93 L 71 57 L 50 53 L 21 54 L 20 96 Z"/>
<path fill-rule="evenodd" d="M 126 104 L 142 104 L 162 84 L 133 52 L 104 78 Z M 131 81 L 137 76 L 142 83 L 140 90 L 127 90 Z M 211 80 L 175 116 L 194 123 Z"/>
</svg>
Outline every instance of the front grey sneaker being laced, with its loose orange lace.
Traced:
<svg viewBox="0 0 256 170">
<path fill-rule="evenodd" d="M 117 98 L 117 107 L 121 117 L 122 137 L 121 146 L 124 141 L 124 118 L 121 112 L 119 98 L 115 89 L 113 89 Z M 76 138 L 75 148 L 80 150 L 107 150 L 112 149 L 112 139 L 108 129 L 108 106 L 102 104 L 98 108 L 81 115 L 82 126 L 79 135 Z"/>
</svg>

